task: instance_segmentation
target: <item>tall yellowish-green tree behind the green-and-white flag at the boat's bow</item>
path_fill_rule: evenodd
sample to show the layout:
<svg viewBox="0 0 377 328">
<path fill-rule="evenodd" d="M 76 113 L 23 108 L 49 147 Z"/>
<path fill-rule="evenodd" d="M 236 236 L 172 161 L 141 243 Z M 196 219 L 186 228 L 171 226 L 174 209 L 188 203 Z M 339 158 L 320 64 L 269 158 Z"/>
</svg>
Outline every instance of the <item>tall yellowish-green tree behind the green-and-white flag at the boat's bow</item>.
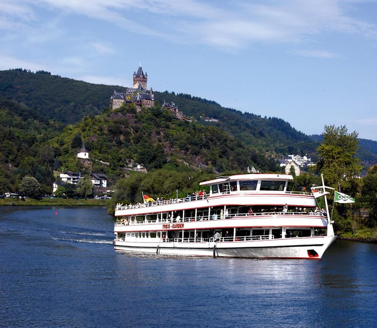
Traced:
<svg viewBox="0 0 377 328">
<path fill-rule="evenodd" d="M 362 166 L 356 157 L 359 148 L 358 133 L 348 133 L 345 126 L 325 126 L 323 142 L 317 148 L 317 171 L 323 174 L 326 184 L 345 193 L 356 194 Z"/>
</svg>

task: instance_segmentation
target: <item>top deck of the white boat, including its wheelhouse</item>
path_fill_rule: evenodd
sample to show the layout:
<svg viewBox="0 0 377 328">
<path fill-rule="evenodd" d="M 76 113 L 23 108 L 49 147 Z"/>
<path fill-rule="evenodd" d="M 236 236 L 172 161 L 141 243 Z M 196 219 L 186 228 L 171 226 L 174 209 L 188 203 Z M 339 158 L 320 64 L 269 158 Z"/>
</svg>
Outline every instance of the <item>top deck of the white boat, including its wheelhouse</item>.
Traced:
<svg viewBox="0 0 377 328">
<path fill-rule="evenodd" d="M 208 206 L 225 206 L 231 204 L 278 205 L 288 203 L 290 206 L 314 207 L 312 193 L 290 191 L 293 186 L 292 175 L 286 174 L 241 174 L 218 177 L 200 183 L 205 188 L 186 197 L 164 199 L 145 197 L 149 201 L 136 204 L 118 203 L 116 216 L 138 215 L 143 213 L 176 211 L 203 208 Z M 144 195 L 145 196 L 145 195 Z M 156 208 L 158 207 L 158 208 Z"/>
</svg>

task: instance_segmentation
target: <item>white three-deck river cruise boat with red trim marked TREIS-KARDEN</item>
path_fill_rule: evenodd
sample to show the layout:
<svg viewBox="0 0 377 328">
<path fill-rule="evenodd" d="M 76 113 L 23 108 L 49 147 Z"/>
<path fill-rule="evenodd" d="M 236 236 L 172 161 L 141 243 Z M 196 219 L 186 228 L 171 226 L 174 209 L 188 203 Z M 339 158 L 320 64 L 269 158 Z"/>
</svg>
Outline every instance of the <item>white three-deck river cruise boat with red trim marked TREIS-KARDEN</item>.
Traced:
<svg viewBox="0 0 377 328">
<path fill-rule="evenodd" d="M 336 238 L 333 222 L 319 209 L 314 192 L 292 191 L 291 175 L 221 176 L 200 186 L 204 192 L 184 198 L 154 200 L 144 195 L 144 203 L 118 203 L 114 249 L 182 256 L 321 259 Z M 326 209 L 328 213 L 327 201 Z"/>
</svg>

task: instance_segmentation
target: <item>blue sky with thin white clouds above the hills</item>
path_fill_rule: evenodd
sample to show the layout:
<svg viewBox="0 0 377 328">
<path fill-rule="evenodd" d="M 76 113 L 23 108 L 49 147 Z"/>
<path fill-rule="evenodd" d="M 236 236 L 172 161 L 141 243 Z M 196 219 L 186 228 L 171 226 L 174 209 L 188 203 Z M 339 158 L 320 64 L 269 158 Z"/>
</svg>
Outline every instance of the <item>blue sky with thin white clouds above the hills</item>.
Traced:
<svg viewBox="0 0 377 328">
<path fill-rule="evenodd" d="M 139 63 L 156 91 L 377 140 L 377 0 L 0 0 L 0 70 L 127 87 Z"/>
</svg>

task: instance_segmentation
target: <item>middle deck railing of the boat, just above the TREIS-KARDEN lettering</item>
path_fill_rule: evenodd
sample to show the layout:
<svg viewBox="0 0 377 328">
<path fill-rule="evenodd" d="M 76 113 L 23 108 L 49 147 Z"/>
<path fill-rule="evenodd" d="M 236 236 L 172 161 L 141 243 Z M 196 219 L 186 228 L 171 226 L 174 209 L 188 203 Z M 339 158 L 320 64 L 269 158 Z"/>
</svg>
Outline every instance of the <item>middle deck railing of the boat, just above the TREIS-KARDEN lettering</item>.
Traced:
<svg viewBox="0 0 377 328">
<path fill-rule="evenodd" d="M 122 219 L 120 222 L 116 222 L 115 226 L 128 226 L 128 225 L 133 225 L 133 224 L 151 224 L 151 223 L 180 223 L 180 222 L 192 222 L 192 221 L 210 221 L 210 220 L 228 220 L 228 219 L 234 219 L 234 218 L 260 218 L 264 216 L 291 216 L 291 215 L 315 215 L 315 216 L 320 216 L 325 219 L 327 219 L 327 216 L 325 213 L 322 212 L 304 212 L 304 211 L 299 211 L 299 212 L 258 212 L 258 213 L 235 213 L 235 214 L 228 214 L 228 215 L 217 215 L 216 219 L 214 219 L 212 216 L 196 216 L 196 217 L 185 217 L 185 218 L 168 218 L 168 219 L 156 219 L 156 220 L 127 220 L 127 219 Z"/>
</svg>

